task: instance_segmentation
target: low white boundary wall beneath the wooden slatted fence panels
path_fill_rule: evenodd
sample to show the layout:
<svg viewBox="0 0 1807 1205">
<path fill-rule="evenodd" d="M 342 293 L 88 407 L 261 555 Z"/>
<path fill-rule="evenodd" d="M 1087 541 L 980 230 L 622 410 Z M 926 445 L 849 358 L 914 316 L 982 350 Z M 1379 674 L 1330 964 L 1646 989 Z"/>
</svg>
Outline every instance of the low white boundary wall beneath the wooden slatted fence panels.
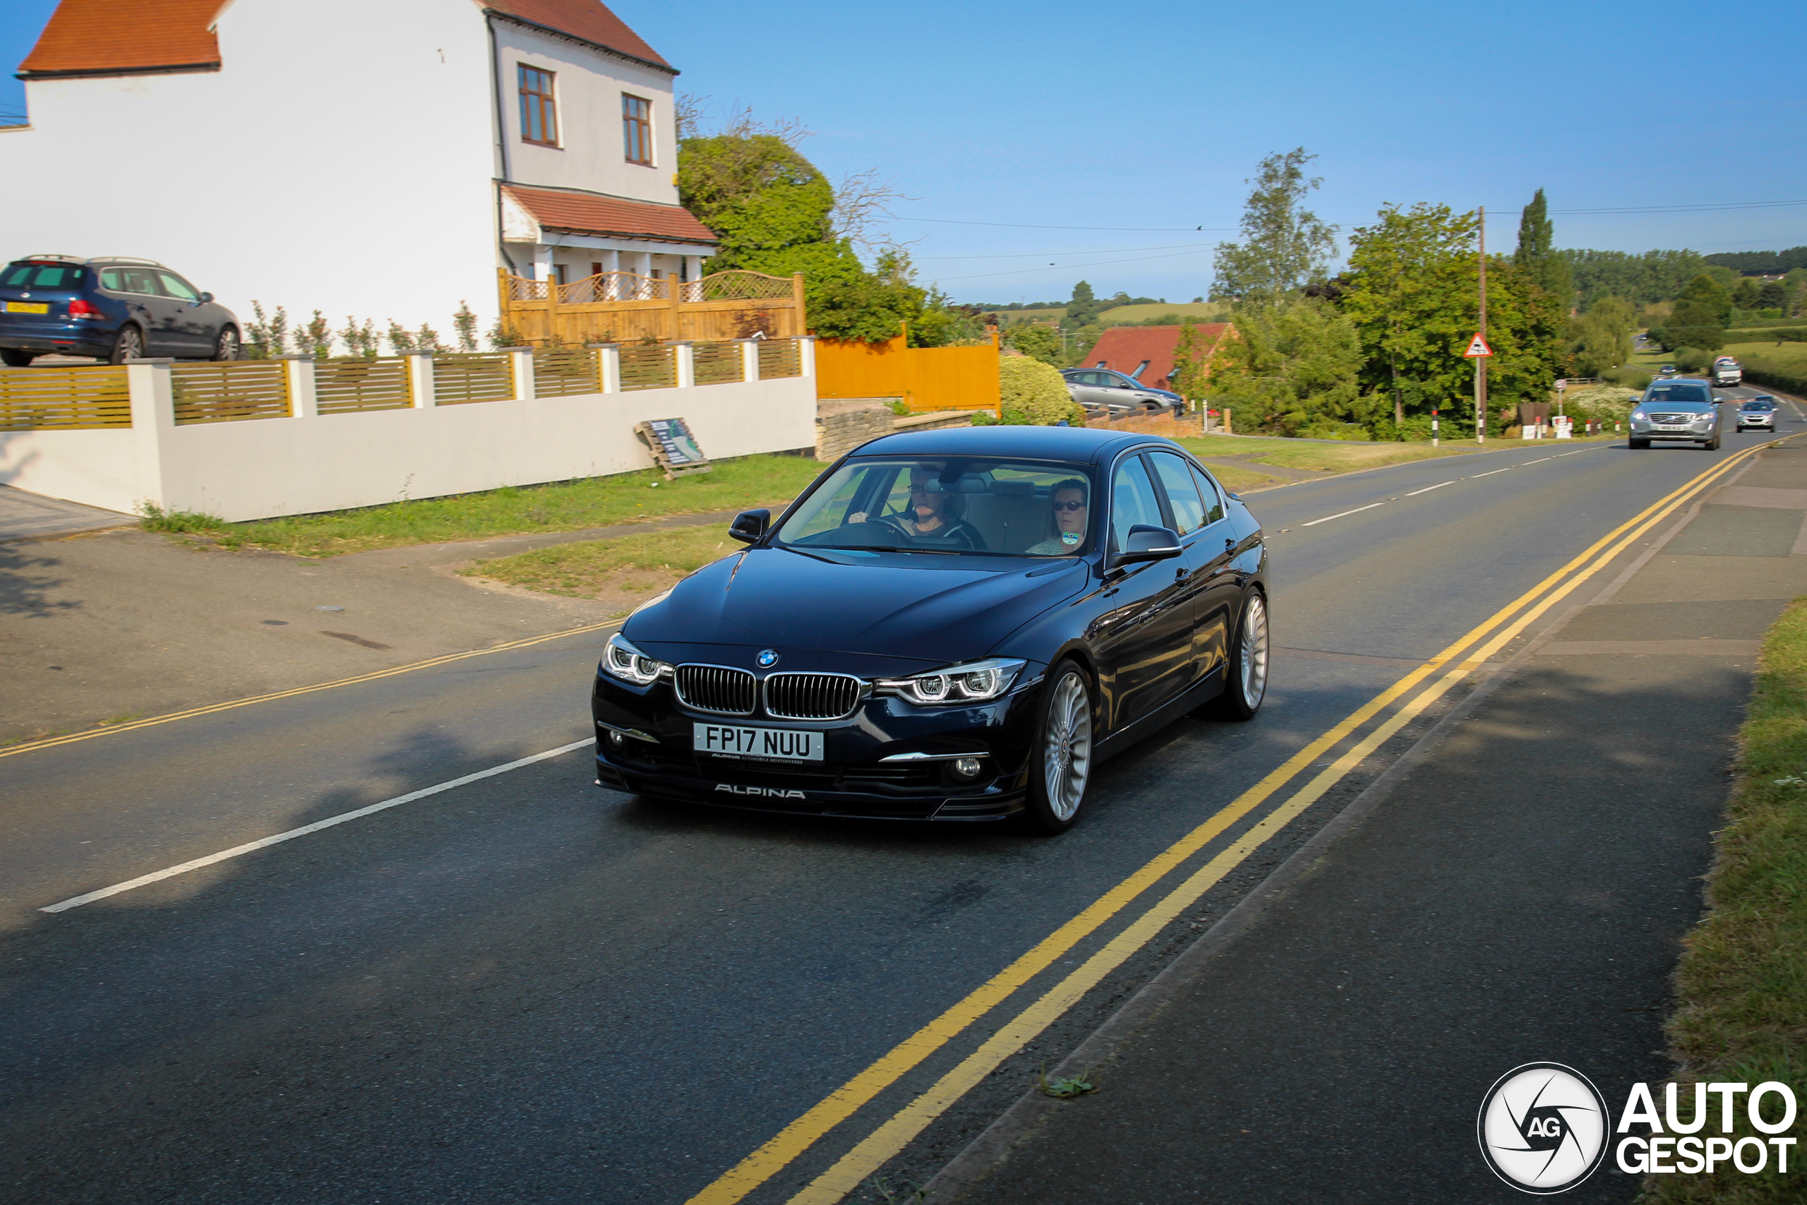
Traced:
<svg viewBox="0 0 1807 1205">
<path fill-rule="evenodd" d="M 173 426 L 134 372 L 132 428 L 0 432 L 0 484 L 246 520 L 645 468 L 643 419 L 687 419 L 712 459 L 815 444 L 813 378 Z"/>
</svg>

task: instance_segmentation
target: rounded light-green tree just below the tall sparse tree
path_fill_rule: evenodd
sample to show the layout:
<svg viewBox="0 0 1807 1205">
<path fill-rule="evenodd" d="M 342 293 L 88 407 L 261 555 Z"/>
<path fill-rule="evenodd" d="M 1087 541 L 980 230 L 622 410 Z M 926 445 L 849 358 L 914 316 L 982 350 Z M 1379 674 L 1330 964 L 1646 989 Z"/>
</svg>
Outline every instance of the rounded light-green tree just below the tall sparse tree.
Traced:
<svg viewBox="0 0 1807 1205">
<path fill-rule="evenodd" d="M 1249 302 L 1234 314 L 1241 338 L 1211 361 L 1211 401 L 1278 435 L 1326 430 L 1355 416 L 1361 336 L 1319 298 Z"/>
</svg>

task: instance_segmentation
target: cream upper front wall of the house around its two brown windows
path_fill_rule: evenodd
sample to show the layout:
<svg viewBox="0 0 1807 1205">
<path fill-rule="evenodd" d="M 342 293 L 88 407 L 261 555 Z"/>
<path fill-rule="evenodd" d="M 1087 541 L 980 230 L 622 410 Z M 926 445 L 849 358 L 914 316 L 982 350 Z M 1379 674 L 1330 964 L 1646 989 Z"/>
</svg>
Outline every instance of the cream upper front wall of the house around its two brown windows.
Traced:
<svg viewBox="0 0 1807 1205">
<path fill-rule="evenodd" d="M 501 18 L 495 38 L 511 181 L 678 204 L 672 76 Z M 520 141 L 520 63 L 557 74 L 557 148 Z M 652 101 L 651 168 L 627 163 L 622 92 Z"/>
</svg>

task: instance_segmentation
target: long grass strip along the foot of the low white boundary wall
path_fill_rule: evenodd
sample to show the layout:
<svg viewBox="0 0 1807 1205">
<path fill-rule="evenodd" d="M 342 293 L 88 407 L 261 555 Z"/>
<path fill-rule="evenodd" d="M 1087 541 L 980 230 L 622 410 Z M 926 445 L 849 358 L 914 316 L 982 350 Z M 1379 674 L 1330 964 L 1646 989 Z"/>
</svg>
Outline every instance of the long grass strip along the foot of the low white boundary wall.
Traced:
<svg viewBox="0 0 1807 1205">
<path fill-rule="evenodd" d="M 401 544 L 481 540 L 522 531 L 580 531 L 669 515 L 770 506 L 797 497 L 824 466 L 795 455 L 717 461 L 716 472 L 665 481 L 658 470 L 546 486 L 486 490 L 354 511 L 228 524 L 208 515 L 146 515 L 152 531 L 206 535 L 222 547 L 334 556 Z"/>
</svg>

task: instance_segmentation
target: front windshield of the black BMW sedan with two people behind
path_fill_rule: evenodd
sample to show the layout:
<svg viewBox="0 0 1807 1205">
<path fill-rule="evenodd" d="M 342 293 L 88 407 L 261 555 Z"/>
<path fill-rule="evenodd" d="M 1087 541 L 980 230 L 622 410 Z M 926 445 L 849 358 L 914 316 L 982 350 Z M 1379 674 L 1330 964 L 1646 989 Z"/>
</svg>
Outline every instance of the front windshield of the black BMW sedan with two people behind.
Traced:
<svg viewBox="0 0 1807 1205">
<path fill-rule="evenodd" d="M 1048 461 L 858 459 L 777 531 L 797 547 L 1073 556 L 1091 547 L 1093 468 Z"/>
</svg>

